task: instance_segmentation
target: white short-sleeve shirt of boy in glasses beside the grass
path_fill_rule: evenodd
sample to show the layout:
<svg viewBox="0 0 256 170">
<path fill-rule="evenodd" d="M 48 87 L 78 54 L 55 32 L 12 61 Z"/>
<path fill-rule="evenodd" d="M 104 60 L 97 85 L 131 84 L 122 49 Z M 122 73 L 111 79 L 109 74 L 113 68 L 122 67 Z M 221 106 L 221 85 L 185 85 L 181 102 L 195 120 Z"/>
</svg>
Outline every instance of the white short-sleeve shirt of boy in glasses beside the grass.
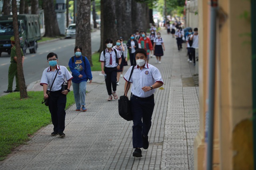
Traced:
<svg viewBox="0 0 256 170">
<path fill-rule="evenodd" d="M 57 73 L 57 69 L 59 69 L 58 73 Z M 57 74 L 56 79 L 52 85 L 52 82 L 56 74 Z M 64 81 L 69 81 L 72 78 L 73 76 L 70 74 L 70 72 L 65 66 L 57 65 L 57 68 L 55 69 L 55 71 L 52 71 L 51 67 L 44 69 L 41 77 L 40 85 L 46 84 L 48 85 L 47 90 L 50 90 L 52 86 L 51 91 L 58 91 L 58 90 L 61 90 L 61 85 Z"/>
</svg>

